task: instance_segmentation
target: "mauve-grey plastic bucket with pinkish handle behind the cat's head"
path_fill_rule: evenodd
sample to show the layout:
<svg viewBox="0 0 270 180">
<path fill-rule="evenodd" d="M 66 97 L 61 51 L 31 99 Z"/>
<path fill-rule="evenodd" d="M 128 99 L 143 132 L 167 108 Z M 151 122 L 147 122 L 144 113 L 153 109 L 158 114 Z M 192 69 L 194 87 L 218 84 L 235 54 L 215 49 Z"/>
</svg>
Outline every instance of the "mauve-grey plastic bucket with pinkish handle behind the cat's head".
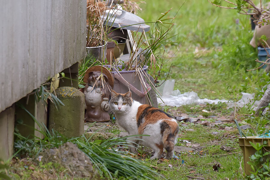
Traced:
<svg viewBox="0 0 270 180">
<path fill-rule="evenodd" d="M 108 69 L 110 69 L 110 65 L 106 65 Z M 111 72 L 114 77 L 114 87 L 113 90 L 117 93 L 126 93 L 129 90 L 132 92 L 132 99 L 135 101 L 139 101 L 141 104 L 146 104 L 148 101 L 146 100 L 146 94 L 151 89 L 151 86 L 147 83 L 145 76 L 147 77 L 147 69 L 148 66 L 143 66 L 143 70 L 141 70 L 141 74 L 143 76 L 143 81 L 147 86 L 142 85 L 139 74 L 136 74 L 135 70 L 121 70 L 122 65 L 116 66 L 116 70 L 113 69 Z"/>
</svg>

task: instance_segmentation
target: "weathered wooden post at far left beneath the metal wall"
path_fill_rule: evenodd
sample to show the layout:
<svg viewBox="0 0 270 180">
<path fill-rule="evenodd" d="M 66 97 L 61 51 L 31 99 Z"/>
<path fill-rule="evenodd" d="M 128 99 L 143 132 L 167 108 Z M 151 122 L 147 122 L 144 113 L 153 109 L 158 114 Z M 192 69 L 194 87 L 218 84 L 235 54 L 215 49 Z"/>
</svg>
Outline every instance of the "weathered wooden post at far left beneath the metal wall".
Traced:
<svg viewBox="0 0 270 180">
<path fill-rule="evenodd" d="M 0 158 L 7 161 L 13 155 L 15 106 L 0 113 Z"/>
</svg>

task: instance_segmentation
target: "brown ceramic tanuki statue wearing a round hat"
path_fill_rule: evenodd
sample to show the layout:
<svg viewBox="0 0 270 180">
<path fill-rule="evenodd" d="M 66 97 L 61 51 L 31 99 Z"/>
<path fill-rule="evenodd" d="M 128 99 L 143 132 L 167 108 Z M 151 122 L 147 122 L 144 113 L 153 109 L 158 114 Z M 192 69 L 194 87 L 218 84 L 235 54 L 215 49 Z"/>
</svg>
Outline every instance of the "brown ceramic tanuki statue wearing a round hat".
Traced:
<svg viewBox="0 0 270 180">
<path fill-rule="evenodd" d="M 85 122 L 109 121 L 110 116 L 107 111 L 110 110 L 110 90 L 114 86 L 112 74 L 106 67 L 93 66 L 87 70 L 83 81 L 86 83 L 84 88 Z"/>
</svg>

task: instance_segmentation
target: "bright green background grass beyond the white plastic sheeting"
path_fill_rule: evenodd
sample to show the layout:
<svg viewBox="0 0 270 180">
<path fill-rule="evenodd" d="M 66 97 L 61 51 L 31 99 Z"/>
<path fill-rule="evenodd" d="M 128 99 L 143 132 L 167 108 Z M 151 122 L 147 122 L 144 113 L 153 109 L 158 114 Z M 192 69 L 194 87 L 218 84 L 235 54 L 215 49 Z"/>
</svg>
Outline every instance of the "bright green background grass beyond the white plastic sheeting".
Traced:
<svg viewBox="0 0 270 180">
<path fill-rule="evenodd" d="M 139 16 L 152 21 L 173 7 L 173 17 L 183 3 L 148 0 Z M 259 66 L 254 61 L 256 49 L 249 45 L 253 35 L 249 16 L 216 8 L 206 0 L 187 0 L 173 22 L 176 25 L 171 35 L 177 34 L 177 43 L 168 46 L 167 51 L 176 54 L 164 66 L 161 78 L 167 76 L 173 64 L 169 78 L 176 79 L 175 89 L 182 93 L 194 91 L 200 98 L 239 100 L 240 92 L 255 92 L 261 97 L 259 90 L 269 77 L 262 82 L 266 80 L 262 70 L 246 71 Z M 194 53 L 195 49 L 198 52 Z"/>
</svg>

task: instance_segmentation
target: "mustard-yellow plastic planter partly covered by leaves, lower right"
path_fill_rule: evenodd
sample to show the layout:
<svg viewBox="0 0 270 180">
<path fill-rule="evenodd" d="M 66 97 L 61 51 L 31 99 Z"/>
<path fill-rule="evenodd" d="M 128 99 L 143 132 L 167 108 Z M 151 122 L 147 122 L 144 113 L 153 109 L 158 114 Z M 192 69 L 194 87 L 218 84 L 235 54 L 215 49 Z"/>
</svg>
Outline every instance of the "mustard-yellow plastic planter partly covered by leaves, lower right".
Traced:
<svg viewBox="0 0 270 180">
<path fill-rule="evenodd" d="M 252 142 L 254 144 L 260 143 L 262 144 L 263 141 L 267 141 L 266 146 L 264 147 L 267 151 L 270 150 L 270 138 L 269 137 L 258 137 L 258 136 L 249 136 L 247 139 L 245 137 L 239 138 L 239 146 L 243 151 L 244 156 L 244 171 L 247 175 L 250 175 L 250 165 L 247 164 L 248 161 L 250 161 L 249 157 L 251 155 L 254 155 L 256 152 L 256 149 L 254 149 L 249 142 Z"/>
</svg>

